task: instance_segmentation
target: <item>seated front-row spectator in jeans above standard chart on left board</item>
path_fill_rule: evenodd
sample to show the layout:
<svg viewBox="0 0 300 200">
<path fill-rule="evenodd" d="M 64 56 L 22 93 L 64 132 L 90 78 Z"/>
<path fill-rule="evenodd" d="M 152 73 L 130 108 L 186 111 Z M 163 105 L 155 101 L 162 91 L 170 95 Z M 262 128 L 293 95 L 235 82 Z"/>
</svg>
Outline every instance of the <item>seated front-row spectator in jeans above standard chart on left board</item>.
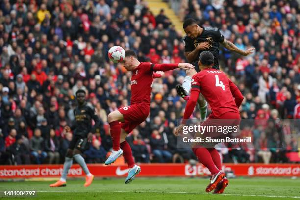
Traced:
<svg viewBox="0 0 300 200">
<path fill-rule="evenodd" d="M 36 164 L 42 164 L 47 157 L 45 150 L 45 141 L 41 137 L 41 130 L 36 128 L 34 136 L 30 140 L 31 155 L 35 158 Z"/>
</svg>

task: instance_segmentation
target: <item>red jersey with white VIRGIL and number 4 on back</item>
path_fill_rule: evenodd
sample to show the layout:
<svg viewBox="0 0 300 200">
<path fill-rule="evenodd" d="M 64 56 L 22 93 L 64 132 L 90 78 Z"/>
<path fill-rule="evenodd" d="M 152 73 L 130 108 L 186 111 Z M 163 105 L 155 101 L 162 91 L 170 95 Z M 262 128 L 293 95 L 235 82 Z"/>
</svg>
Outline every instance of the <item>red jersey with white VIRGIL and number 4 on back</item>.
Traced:
<svg viewBox="0 0 300 200">
<path fill-rule="evenodd" d="M 236 86 L 220 70 L 206 68 L 192 77 L 192 89 L 200 91 L 209 103 L 212 116 L 218 118 L 226 112 L 239 113 L 231 93 Z"/>
</svg>

